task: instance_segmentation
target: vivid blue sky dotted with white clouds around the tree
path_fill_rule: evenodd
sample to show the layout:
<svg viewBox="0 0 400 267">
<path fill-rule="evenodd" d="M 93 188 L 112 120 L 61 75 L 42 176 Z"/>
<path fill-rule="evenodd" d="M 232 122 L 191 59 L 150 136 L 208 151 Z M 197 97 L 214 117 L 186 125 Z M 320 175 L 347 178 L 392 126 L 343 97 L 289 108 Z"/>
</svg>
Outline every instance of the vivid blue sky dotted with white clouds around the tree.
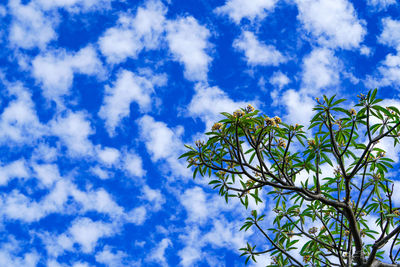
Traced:
<svg viewBox="0 0 400 267">
<path fill-rule="evenodd" d="M 395 0 L 5 0 L 0 25 L 0 266 L 242 266 L 268 244 L 183 144 L 249 103 L 400 106 Z"/>
</svg>

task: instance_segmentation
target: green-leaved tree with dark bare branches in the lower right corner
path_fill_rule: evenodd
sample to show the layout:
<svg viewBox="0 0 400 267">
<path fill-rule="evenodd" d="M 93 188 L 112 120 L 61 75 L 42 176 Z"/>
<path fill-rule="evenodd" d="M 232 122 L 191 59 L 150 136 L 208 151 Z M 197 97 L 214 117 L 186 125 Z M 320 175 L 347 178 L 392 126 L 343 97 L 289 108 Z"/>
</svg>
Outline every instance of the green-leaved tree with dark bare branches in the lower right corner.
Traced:
<svg viewBox="0 0 400 267">
<path fill-rule="evenodd" d="M 265 229 L 265 215 L 253 210 L 240 229 L 256 228 L 270 247 L 247 243 L 246 263 L 269 253 L 272 266 L 400 266 L 400 209 L 386 177 L 393 160 L 378 145 L 400 142 L 400 111 L 381 106 L 376 94 L 360 94 L 351 109 L 341 106 L 345 99 L 316 98 L 308 135 L 248 105 L 222 113 L 207 141 L 186 145 L 181 158 L 193 178 L 212 177 L 226 202 L 239 198 L 247 209 L 249 198 L 263 201 L 261 190 L 274 201 L 273 228 Z M 306 242 L 297 247 L 300 238 Z"/>
</svg>

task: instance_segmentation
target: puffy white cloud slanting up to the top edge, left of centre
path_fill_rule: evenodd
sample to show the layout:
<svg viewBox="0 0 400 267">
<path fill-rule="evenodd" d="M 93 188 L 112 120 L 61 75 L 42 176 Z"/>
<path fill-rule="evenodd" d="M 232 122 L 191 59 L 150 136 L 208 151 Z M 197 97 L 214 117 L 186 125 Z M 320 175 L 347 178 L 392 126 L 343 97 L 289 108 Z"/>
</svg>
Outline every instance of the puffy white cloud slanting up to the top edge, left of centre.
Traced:
<svg viewBox="0 0 400 267">
<path fill-rule="evenodd" d="M 143 49 L 159 46 L 164 31 L 166 8 L 160 1 L 147 1 L 139 7 L 135 17 L 120 16 L 117 25 L 109 28 L 99 39 L 99 46 L 107 61 L 121 63 L 136 58 Z"/>
</svg>

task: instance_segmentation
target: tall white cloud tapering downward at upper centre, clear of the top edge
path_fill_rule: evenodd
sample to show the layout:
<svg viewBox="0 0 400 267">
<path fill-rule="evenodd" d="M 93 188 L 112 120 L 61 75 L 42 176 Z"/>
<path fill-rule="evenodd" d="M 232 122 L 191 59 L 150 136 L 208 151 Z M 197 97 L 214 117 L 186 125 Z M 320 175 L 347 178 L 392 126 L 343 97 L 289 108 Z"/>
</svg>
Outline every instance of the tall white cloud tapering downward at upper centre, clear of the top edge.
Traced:
<svg viewBox="0 0 400 267">
<path fill-rule="evenodd" d="M 193 17 L 178 18 L 167 23 L 169 49 L 185 67 L 185 78 L 191 81 L 207 80 L 212 58 L 207 54 L 210 31 Z"/>
</svg>

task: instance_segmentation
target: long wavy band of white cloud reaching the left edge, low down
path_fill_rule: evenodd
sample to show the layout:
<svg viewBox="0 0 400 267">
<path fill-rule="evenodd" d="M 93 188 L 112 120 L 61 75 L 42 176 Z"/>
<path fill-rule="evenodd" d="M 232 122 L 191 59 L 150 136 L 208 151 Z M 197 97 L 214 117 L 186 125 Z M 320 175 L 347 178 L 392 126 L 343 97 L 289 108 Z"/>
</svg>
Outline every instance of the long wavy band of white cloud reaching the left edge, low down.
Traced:
<svg viewBox="0 0 400 267">
<path fill-rule="evenodd" d="M 6 219 L 30 223 L 55 212 L 75 215 L 97 212 L 108 215 L 116 224 L 131 222 L 140 225 L 147 218 L 147 209 L 157 211 L 165 201 L 158 190 L 145 189 L 143 196 L 146 197 L 145 201 L 150 203 L 149 208 L 138 206 L 125 212 L 124 208 L 115 202 L 114 197 L 104 189 L 81 191 L 68 180 L 59 179 L 50 189 L 50 193 L 40 201 L 35 201 L 17 190 L 2 194 L 0 214 Z"/>
</svg>

